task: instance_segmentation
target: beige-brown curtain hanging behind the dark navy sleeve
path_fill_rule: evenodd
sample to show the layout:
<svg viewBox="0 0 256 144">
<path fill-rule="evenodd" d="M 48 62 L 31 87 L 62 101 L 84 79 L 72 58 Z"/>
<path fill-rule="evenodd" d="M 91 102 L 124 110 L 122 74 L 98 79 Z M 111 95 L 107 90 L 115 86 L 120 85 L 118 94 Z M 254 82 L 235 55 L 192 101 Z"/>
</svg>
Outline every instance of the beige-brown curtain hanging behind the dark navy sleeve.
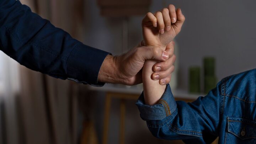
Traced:
<svg viewBox="0 0 256 144">
<path fill-rule="evenodd" d="M 82 0 L 21 0 L 21 3 L 82 41 Z M 20 69 L 21 94 L 17 99 L 20 143 L 77 143 L 78 85 L 24 66 Z"/>
</svg>

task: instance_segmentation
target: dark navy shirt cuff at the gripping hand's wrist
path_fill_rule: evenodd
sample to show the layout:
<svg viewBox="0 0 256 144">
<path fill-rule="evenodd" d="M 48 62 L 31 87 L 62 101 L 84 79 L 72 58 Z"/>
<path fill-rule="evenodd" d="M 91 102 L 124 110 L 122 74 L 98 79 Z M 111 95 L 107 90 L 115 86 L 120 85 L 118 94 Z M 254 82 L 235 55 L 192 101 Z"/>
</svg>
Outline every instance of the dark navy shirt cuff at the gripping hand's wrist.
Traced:
<svg viewBox="0 0 256 144">
<path fill-rule="evenodd" d="M 78 44 L 70 54 L 67 63 L 68 79 L 92 86 L 103 86 L 98 82 L 98 73 L 108 52 Z"/>
</svg>

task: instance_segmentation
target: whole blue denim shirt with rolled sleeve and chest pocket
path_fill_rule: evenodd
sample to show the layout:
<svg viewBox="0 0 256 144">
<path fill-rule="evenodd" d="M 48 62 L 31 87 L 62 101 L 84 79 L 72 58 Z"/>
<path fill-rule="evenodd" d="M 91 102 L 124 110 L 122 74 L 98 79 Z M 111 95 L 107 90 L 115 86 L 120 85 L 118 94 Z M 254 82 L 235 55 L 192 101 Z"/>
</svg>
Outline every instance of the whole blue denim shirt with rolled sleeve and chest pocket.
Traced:
<svg viewBox="0 0 256 144">
<path fill-rule="evenodd" d="M 256 69 L 224 78 L 216 88 L 192 103 L 175 101 L 167 85 L 158 104 L 136 105 L 151 133 L 185 143 L 256 143 Z"/>
</svg>

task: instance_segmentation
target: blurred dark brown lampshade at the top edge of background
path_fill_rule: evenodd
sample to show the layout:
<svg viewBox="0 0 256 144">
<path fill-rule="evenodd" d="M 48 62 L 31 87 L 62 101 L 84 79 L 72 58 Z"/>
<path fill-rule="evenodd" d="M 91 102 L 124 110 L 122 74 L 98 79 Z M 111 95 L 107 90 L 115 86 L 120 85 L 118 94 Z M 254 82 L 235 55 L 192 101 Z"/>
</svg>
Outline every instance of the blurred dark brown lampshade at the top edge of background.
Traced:
<svg viewBox="0 0 256 144">
<path fill-rule="evenodd" d="M 151 0 L 98 0 L 102 16 L 128 17 L 145 15 Z"/>
</svg>

